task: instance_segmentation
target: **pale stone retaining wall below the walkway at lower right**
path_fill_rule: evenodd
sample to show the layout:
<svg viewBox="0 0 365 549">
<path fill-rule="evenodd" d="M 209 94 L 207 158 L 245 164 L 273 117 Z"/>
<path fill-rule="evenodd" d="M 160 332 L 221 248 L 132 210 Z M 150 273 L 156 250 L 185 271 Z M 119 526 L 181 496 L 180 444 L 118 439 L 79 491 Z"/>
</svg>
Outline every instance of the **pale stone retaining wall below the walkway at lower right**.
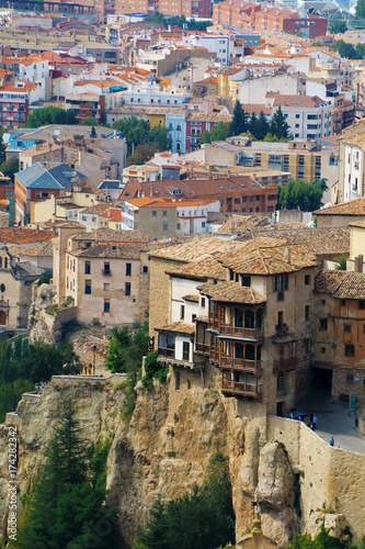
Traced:
<svg viewBox="0 0 365 549">
<path fill-rule="evenodd" d="M 300 477 L 303 522 L 326 502 L 342 513 L 352 533 L 365 533 L 365 456 L 332 448 L 301 422 L 270 416 L 267 438 L 283 442 Z"/>
</svg>

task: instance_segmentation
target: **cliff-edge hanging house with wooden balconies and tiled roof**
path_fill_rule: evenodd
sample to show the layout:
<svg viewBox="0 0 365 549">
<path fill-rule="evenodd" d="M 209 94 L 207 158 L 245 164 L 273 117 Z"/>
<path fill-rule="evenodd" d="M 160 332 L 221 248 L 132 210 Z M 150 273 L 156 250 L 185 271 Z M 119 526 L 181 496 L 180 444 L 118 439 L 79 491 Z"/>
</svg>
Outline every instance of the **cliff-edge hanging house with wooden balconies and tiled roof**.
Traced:
<svg viewBox="0 0 365 549">
<path fill-rule="evenodd" d="M 287 414 L 308 382 L 315 272 L 305 247 L 264 237 L 150 253 L 150 325 L 172 397 L 215 383 L 238 408 Z"/>
</svg>

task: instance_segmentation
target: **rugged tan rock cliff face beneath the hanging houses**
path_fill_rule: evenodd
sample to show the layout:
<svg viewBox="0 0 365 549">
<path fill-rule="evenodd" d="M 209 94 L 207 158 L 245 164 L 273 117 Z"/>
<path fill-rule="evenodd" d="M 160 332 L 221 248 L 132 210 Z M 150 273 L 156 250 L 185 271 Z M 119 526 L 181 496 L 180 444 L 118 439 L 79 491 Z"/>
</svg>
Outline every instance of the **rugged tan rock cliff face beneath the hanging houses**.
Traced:
<svg viewBox="0 0 365 549">
<path fill-rule="evenodd" d="M 116 381 L 112 377 L 94 384 L 53 382 L 42 396 L 23 397 L 18 416 L 8 414 L 8 424 L 18 424 L 19 428 L 21 493 L 43 459 L 64 404 L 71 401 L 88 442 L 101 436 L 113 440 L 107 462 L 107 503 L 119 509 L 119 529 L 127 545 L 144 524 L 157 494 L 172 498 L 199 484 L 217 448 L 230 458 L 237 540 L 250 531 L 252 502 L 259 501 L 264 534 L 285 544 L 297 529 L 294 475 L 281 446 L 265 444 L 263 418 L 239 417 L 236 402 L 224 399 L 214 384 L 187 391 L 171 414 L 169 382 L 156 382 L 150 392 L 137 385 L 136 408 L 128 426 L 119 416 L 124 392 L 114 386 Z M 3 479 L 8 478 L 5 434 L 0 429 Z M 3 481 L 0 502 L 5 502 L 7 489 Z M 2 518 L 4 507 L 0 507 Z"/>
</svg>

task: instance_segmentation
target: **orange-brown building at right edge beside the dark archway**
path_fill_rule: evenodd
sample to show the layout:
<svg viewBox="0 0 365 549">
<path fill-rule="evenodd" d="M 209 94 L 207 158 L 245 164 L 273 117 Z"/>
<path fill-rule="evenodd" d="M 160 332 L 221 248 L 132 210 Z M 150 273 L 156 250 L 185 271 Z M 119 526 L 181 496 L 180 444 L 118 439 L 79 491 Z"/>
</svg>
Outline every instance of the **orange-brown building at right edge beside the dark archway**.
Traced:
<svg viewBox="0 0 365 549">
<path fill-rule="evenodd" d="M 315 282 L 313 366 L 344 402 L 365 395 L 364 288 L 363 272 L 322 270 Z"/>
</svg>

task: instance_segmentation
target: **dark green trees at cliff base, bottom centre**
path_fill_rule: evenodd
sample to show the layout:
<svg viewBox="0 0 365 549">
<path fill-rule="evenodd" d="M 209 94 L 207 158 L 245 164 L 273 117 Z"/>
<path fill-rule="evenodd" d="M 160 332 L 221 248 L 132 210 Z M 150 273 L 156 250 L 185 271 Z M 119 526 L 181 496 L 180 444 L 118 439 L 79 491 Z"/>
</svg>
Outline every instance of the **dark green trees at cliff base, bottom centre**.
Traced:
<svg viewBox="0 0 365 549">
<path fill-rule="evenodd" d="M 158 498 L 135 549 L 215 549 L 235 541 L 235 513 L 228 459 L 212 458 L 207 479 L 168 503 Z"/>
</svg>

